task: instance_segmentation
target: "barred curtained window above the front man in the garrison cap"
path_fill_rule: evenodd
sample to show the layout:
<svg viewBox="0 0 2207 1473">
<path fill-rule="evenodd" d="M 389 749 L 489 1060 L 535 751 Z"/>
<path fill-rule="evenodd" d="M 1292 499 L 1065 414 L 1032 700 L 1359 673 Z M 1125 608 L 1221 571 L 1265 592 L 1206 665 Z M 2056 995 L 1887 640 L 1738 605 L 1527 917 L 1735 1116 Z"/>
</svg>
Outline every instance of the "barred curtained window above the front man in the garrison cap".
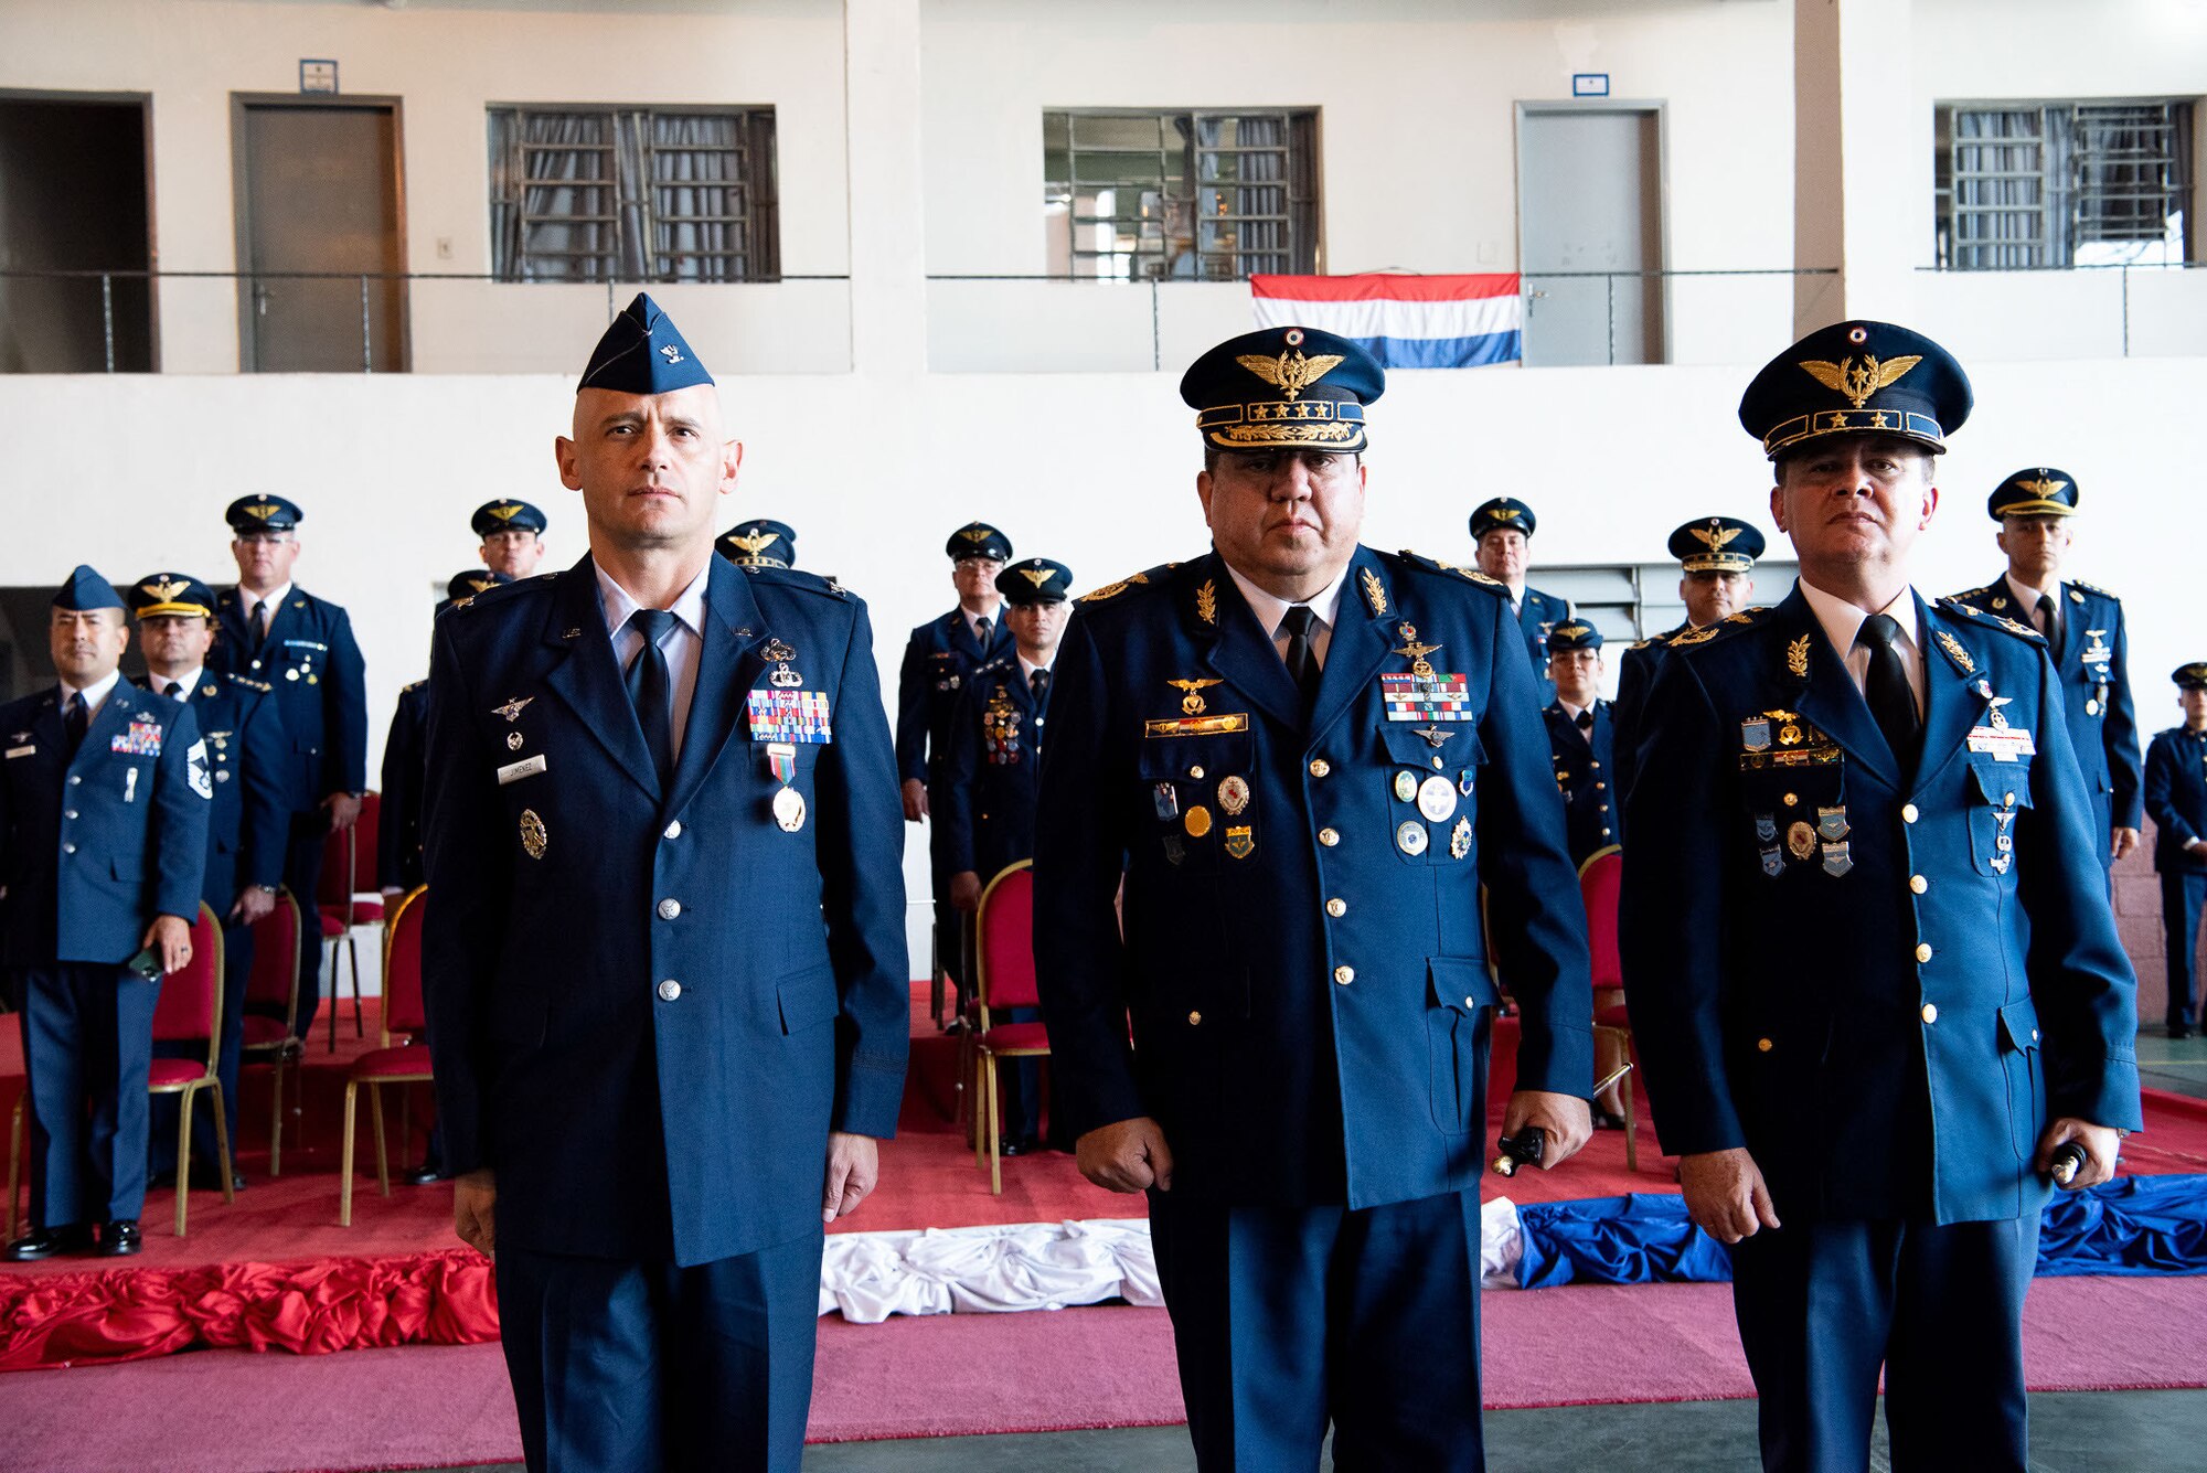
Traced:
<svg viewBox="0 0 2207 1473">
<path fill-rule="evenodd" d="M 779 234 L 772 108 L 490 108 L 499 280 L 775 280 Z"/>
</svg>

